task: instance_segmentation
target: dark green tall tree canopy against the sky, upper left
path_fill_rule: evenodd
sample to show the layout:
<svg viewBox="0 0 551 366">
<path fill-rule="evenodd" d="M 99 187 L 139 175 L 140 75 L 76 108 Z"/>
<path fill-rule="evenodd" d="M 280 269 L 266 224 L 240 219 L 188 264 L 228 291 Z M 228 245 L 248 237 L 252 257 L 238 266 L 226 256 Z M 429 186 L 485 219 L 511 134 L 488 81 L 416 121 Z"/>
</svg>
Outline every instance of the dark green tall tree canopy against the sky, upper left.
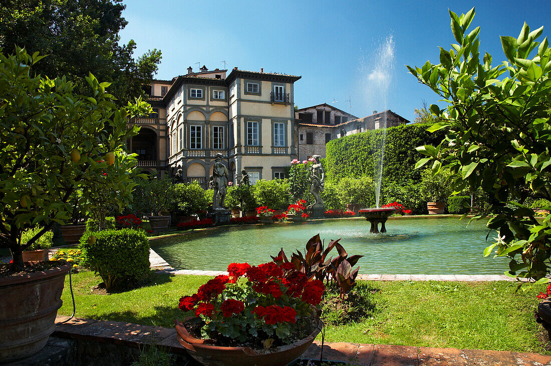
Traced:
<svg viewBox="0 0 551 366">
<path fill-rule="evenodd" d="M 47 55 L 34 72 L 49 78 L 66 76 L 75 92 L 89 92 L 91 72 L 111 83 L 120 106 L 144 95 L 143 85 L 156 74 L 161 52 L 150 50 L 133 58 L 136 42 L 120 44 L 118 32 L 128 22 L 121 0 L 6 0 L 0 8 L 0 47 Z"/>
</svg>

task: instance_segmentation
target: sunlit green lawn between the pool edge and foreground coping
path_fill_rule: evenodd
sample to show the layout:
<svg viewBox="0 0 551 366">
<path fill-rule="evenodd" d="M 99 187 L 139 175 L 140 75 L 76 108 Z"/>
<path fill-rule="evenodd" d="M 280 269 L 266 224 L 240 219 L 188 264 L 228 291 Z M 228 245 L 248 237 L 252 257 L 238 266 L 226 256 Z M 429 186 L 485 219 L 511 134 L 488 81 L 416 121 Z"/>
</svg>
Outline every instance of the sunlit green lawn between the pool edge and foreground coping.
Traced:
<svg viewBox="0 0 551 366">
<path fill-rule="evenodd" d="M 155 274 L 137 289 L 114 294 L 93 294 L 101 282 L 92 272 L 73 275 L 80 318 L 127 321 L 171 327 L 182 318 L 178 299 L 195 293 L 207 276 Z M 67 276 L 60 314 L 71 315 Z M 545 351 L 533 318 L 536 294 L 544 286 L 515 292 L 509 282 L 369 281 L 372 310 L 358 323 L 326 326 L 326 341 L 390 345 Z M 363 286 L 363 287 L 365 287 Z M 321 339 L 321 335 L 320 335 Z"/>
</svg>

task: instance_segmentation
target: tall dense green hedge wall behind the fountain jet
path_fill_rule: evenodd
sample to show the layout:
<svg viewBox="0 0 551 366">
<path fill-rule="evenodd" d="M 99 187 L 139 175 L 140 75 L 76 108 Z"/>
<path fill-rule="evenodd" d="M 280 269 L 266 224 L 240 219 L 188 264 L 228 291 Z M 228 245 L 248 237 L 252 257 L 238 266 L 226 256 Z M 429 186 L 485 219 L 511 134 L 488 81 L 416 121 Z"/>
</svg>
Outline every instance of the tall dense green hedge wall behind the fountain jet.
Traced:
<svg viewBox="0 0 551 366">
<path fill-rule="evenodd" d="M 421 170 L 414 170 L 415 163 L 424 156 L 415 148 L 421 145 L 436 146 L 446 131 L 426 131 L 430 124 L 402 124 L 386 129 L 383 179 L 395 184 L 420 181 Z M 327 143 L 327 155 L 323 167 L 329 181 L 342 178 L 374 177 L 379 162 L 383 130 L 345 136 Z"/>
</svg>

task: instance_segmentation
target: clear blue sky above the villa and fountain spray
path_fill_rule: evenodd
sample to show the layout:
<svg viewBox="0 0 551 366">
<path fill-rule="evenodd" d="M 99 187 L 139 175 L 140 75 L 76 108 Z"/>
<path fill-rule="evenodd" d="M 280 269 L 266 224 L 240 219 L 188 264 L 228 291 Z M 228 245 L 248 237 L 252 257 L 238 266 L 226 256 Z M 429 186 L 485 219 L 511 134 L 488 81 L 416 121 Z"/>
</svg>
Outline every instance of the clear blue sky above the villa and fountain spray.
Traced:
<svg viewBox="0 0 551 366">
<path fill-rule="evenodd" d="M 125 4 L 121 41 L 136 41 L 136 56 L 163 52 L 158 79 L 185 74 L 190 65 L 197 70 L 197 62 L 222 69 L 222 61 L 228 69 L 301 75 L 294 89 L 299 108 L 326 102 L 358 117 L 390 109 L 413 121 L 423 100 L 436 102 L 404 65 L 438 63 L 438 46 L 455 43 L 448 8 L 461 14 L 476 7 L 471 29 L 480 26 L 480 52 L 494 64 L 505 59 L 499 36 L 517 37 L 525 21 L 531 29 L 543 25 L 541 38 L 551 38 L 549 0 Z"/>
</svg>

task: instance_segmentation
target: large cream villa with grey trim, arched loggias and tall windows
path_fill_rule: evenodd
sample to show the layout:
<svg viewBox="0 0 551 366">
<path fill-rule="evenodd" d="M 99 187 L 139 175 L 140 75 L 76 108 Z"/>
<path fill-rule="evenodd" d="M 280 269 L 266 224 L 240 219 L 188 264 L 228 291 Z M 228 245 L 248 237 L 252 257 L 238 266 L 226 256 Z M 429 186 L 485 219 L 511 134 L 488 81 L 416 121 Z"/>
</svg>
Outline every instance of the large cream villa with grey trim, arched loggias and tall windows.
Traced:
<svg viewBox="0 0 551 366">
<path fill-rule="evenodd" d="M 300 77 L 206 67 L 170 81 L 154 80 L 151 116 L 131 123 L 142 131 L 131 141 L 139 165 L 206 187 L 221 153 L 233 179 L 245 168 L 251 183 L 283 178 L 296 157 L 293 84 Z"/>
</svg>

